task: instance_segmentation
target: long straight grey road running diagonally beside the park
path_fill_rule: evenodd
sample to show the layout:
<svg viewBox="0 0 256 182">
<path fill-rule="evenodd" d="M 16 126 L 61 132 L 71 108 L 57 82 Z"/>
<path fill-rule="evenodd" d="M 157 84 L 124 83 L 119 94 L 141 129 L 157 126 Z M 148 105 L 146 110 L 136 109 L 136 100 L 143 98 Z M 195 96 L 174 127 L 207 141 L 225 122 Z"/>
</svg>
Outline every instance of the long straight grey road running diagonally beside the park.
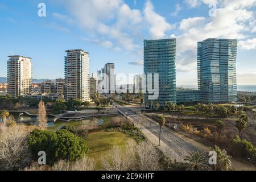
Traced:
<svg viewBox="0 0 256 182">
<path fill-rule="evenodd" d="M 146 128 L 148 131 L 150 131 L 152 134 L 154 134 L 156 137 L 159 138 L 159 125 L 156 124 L 154 121 L 151 119 L 147 118 L 146 116 L 142 114 L 135 114 L 134 110 L 132 108 L 127 108 L 126 106 L 119 106 L 118 109 L 121 110 L 123 113 L 125 113 L 127 116 L 132 118 L 134 122 L 139 123 L 139 125 L 143 125 L 144 128 Z M 161 130 L 161 140 L 165 144 L 167 144 L 168 147 L 172 148 L 172 150 L 176 152 L 195 152 L 195 151 L 200 151 L 197 149 L 195 146 L 192 144 L 186 142 L 184 139 L 178 137 L 175 135 L 174 131 L 162 127 Z M 201 152 L 201 151 L 200 151 Z"/>
</svg>

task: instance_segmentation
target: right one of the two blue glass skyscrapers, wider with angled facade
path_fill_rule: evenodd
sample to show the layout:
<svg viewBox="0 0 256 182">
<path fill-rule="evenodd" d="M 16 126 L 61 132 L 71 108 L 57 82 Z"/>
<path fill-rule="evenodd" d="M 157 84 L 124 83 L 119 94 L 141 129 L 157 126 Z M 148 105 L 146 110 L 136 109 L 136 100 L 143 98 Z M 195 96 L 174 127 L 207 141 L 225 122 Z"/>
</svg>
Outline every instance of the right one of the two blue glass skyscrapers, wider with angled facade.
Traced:
<svg viewBox="0 0 256 182">
<path fill-rule="evenodd" d="M 207 39 L 197 43 L 200 100 L 237 101 L 237 40 Z"/>
</svg>

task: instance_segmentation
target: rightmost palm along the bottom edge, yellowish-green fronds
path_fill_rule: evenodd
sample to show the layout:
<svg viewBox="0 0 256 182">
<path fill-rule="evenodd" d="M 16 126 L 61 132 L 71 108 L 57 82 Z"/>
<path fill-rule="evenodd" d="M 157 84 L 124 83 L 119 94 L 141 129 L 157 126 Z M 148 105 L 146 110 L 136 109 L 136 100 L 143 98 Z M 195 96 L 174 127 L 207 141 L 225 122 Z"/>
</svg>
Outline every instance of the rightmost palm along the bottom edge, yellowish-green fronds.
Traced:
<svg viewBox="0 0 256 182">
<path fill-rule="evenodd" d="M 231 157 L 226 153 L 225 150 L 221 150 L 220 147 L 210 148 L 211 151 L 215 151 L 217 154 L 217 164 L 213 165 L 213 171 L 228 171 L 232 166 L 230 161 Z"/>
</svg>

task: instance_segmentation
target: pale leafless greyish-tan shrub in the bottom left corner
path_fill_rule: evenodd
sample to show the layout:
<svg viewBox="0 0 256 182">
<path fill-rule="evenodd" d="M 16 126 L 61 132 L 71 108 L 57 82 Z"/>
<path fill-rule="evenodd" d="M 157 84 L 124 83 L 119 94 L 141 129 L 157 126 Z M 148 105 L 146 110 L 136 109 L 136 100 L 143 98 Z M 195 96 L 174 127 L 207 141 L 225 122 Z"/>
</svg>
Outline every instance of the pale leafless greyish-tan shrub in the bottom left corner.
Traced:
<svg viewBox="0 0 256 182">
<path fill-rule="evenodd" d="M 31 164 L 27 134 L 28 128 L 23 125 L 6 127 L 0 132 L 0 171 L 19 170 Z"/>
</svg>

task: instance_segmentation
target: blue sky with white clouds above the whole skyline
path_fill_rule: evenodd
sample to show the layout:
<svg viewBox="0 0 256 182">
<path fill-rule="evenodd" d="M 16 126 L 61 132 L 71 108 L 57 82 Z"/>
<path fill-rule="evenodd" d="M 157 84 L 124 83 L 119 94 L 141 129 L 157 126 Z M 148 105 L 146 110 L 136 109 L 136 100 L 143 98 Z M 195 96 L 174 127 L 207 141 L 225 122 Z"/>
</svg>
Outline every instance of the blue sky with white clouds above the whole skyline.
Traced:
<svg viewBox="0 0 256 182">
<path fill-rule="evenodd" d="M 32 57 L 33 78 L 64 77 L 67 49 L 90 53 L 90 73 L 143 73 L 143 40 L 176 38 L 177 85 L 196 85 L 197 42 L 225 38 L 238 85 L 256 85 L 256 0 L 1 0 L 0 23 L 0 77 L 12 54 Z"/>
</svg>

